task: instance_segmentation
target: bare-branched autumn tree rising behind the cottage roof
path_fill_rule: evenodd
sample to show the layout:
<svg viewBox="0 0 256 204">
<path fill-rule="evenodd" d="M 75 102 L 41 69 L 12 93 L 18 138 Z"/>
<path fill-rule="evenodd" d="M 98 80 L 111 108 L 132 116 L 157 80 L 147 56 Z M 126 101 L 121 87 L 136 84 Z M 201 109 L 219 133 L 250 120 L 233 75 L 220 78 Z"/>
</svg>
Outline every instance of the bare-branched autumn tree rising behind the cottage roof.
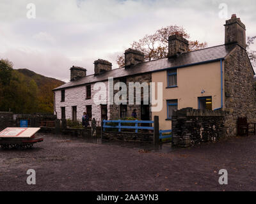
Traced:
<svg viewBox="0 0 256 204">
<path fill-rule="evenodd" d="M 140 50 L 145 55 L 146 61 L 152 59 L 162 59 L 168 54 L 168 37 L 177 34 L 189 40 L 188 32 L 178 25 L 170 25 L 158 29 L 154 34 L 146 34 L 143 38 L 138 41 L 134 41 L 131 44 L 131 48 Z M 189 51 L 198 50 L 207 47 L 207 43 L 200 43 L 198 40 L 189 41 Z M 124 55 L 118 55 L 116 62 L 121 68 L 124 66 Z"/>
</svg>

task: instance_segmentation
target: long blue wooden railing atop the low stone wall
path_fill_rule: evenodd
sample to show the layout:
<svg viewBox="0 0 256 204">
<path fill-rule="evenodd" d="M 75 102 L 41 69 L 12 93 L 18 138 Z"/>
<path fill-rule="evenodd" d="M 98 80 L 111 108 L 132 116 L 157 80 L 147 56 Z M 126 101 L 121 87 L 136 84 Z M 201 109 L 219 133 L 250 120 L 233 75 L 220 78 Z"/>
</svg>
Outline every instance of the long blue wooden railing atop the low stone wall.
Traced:
<svg viewBox="0 0 256 204">
<path fill-rule="evenodd" d="M 108 126 L 107 122 L 118 123 L 116 126 Z M 122 126 L 122 123 L 134 123 L 135 126 Z M 146 126 L 138 126 L 139 123 L 148 123 L 152 124 L 154 121 L 152 120 L 103 120 L 103 131 L 105 128 L 118 128 L 118 132 L 121 132 L 122 129 L 135 129 L 135 133 L 138 133 L 138 129 L 154 129 L 154 127 L 146 127 Z"/>
</svg>

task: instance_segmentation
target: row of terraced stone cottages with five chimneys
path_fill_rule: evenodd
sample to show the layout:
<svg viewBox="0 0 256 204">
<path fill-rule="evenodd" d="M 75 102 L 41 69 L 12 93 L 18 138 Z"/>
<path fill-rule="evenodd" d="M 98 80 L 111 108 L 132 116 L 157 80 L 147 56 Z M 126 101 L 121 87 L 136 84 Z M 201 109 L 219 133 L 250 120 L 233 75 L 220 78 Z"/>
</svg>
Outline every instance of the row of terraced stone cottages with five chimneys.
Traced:
<svg viewBox="0 0 256 204">
<path fill-rule="evenodd" d="M 86 76 L 86 69 L 70 68 L 70 82 L 54 89 L 54 113 L 58 119 L 79 119 L 83 112 L 91 118 L 118 119 L 131 117 L 136 108 L 138 119 L 152 120 L 159 115 L 159 128 L 171 129 L 173 110 L 192 107 L 227 112 L 228 135 L 236 134 L 237 117 L 254 122 L 256 92 L 255 75 L 246 54 L 245 25 L 232 15 L 225 24 L 225 44 L 188 52 L 188 40 L 169 37 L 168 57 L 145 62 L 143 53 L 125 50 L 125 66 L 111 69 L 112 64 L 98 59 L 95 73 Z M 150 104 L 95 105 L 92 89 L 95 82 L 163 82 L 163 108 L 150 112 Z M 142 101 L 142 99 L 141 99 Z"/>
</svg>

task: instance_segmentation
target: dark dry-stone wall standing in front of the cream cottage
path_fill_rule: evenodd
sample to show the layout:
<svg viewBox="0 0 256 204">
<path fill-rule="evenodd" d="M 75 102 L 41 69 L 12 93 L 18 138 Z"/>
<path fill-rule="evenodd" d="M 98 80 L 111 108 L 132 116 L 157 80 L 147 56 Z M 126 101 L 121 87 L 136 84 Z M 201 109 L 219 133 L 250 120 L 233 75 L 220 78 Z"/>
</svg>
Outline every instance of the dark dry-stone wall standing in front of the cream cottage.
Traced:
<svg viewBox="0 0 256 204">
<path fill-rule="evenodd" d="M 172 115 L 172 143 L 189 147 L 225 137 L 225 112 L 183 108 Z"/>
</svg>

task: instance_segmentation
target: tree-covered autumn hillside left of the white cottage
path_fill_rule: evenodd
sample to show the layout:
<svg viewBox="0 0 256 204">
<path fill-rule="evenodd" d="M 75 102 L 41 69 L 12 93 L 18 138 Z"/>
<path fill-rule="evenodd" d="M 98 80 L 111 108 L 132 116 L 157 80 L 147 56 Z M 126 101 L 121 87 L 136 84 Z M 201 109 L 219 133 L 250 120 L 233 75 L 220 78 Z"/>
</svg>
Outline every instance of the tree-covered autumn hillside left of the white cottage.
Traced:
<svg viewBox="0 0 256 204">
<path fill-rule="evenodd" d="M 0 111 L 53 113 L 52 89 L 65 82 L 12 67 L 12 62 L 0 60 Z"/>
</svg>

